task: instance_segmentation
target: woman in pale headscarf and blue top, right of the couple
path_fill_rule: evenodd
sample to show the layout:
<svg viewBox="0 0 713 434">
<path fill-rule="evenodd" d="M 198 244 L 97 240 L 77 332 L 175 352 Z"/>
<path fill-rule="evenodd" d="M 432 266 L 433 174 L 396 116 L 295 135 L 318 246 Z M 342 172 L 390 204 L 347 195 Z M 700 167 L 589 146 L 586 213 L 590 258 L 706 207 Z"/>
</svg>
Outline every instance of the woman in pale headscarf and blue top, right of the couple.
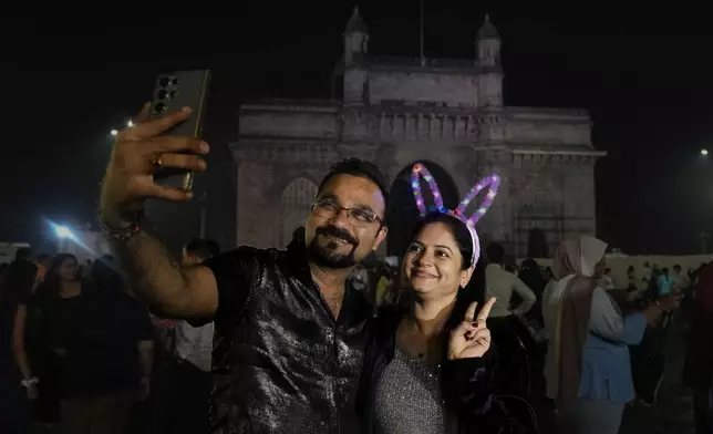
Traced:
<svg viewBox="0 0 713 434">
<path fill-rule="evenodd" d="M 607 244 L 592 237 L 564 241 L 557 249 L 542 313 L 550 337 L 545 366 L 547 394 L 555 400 L 562 432 L 616 434 L 624 404 L 634 397 L 629 349 L 647 324 L 674 309 L 678 299 L 660 298 L 623 316 L 597 286 Z"/>
</svg>

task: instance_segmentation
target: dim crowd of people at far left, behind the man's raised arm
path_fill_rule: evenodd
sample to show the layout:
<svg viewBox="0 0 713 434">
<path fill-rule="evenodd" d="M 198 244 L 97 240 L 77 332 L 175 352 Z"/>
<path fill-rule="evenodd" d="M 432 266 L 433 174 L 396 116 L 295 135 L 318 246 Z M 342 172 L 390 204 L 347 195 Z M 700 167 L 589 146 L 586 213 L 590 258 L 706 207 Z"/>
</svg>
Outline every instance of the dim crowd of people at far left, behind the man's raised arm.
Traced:
<svg viewBox="0 0 713 434">
<path fill-rule="evenodd" d="M 184 261 L 218 252 L 196 239 Z M 21 249 L 0 306 L 0 432 L 207 432 L 211 327 L 152 316 L 112 256 Z"/>
</svg>

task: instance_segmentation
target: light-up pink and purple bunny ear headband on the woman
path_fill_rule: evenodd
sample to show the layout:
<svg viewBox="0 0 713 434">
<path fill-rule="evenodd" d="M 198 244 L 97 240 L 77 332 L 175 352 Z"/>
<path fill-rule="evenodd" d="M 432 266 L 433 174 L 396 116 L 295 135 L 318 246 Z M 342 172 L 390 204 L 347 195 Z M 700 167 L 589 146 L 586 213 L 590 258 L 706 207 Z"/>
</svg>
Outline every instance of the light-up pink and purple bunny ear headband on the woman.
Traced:
<svg viewBox="0 0 713 434">
<path fill-rule="evenodd" d="M 436 180 L 423 164 L 416 163 L 413 165 L 413 169 L 411 170 L 411 189 L 413 190 L 413 196 L 416 199 L 416 207 L 418 208 L 421 217 L 424 217 L 427 214 L 426 204 L 423 200 L 423 194 L 421 193 L 421 179 L 418 179 L 418 177 L 421 176 L 423 176 L 423 179 L 426 182 L 426 184 L 428 184 L 428 188 L 433 194 L 433 202 L 436 210 L 438 213 L 447 214 L 457 218 L 458 220 L 463 221 L 468 228 L 468 232 L 471 232 L 471 240 L 473 241 L 473 257 L 471 258 L 473 262 L 472 266 L 475 267 L 475 262 L 477 262 L 478 258 L 480 257 L 480 240 L 478 238 L 477 231 L 475 230 L 475 224 L 485 215 L 485 213 L 487 213 L 490 205 L 493 205 L 493 199 L 497 195 L 497 189 L 500 186 L 500 177 L 493 174 L 478 180 L 471 188 L 471 192 L 468 192 L 467 196 L 465 196 L 465 198 L 461 200 L 461 204 L 458 204 L 458 207 L 456 209 L 446 209 L 443 205 L 443 196 L 441 196 L 441 190 L 438 189 Z M 487 195 L 485 196 L 485 198 L 483 198 L 480 206 L 478 206 L 478 208 L 471 215 L 471 217 L 466 217 L 466 208 L 485 187 L 489 188 Z"/>
</svg>

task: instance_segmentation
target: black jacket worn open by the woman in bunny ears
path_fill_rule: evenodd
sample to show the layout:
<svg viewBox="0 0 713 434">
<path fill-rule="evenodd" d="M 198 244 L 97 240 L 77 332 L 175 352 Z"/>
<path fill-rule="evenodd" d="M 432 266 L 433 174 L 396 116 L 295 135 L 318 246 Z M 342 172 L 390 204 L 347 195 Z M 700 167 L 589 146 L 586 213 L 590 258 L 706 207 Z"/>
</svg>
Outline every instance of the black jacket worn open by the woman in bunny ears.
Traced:
<svg viewBox="0 0 713 434">
<path fill-rule="evenodd" d="M 356 407 L 362 433 L 374 433 L 373 412 L 376 382 L 394 358 L 396 329 L 403 314 L 391 312 L 374 318 L 369 324 L 364 368 L 356 395 Z M 442 363 L 443 396 L 458 416 L 461 433 L 526 433 L 519 423 L 508 416 L 492 389 L 493 361 L 485 358 L 444 361 Z"/>
</svg>

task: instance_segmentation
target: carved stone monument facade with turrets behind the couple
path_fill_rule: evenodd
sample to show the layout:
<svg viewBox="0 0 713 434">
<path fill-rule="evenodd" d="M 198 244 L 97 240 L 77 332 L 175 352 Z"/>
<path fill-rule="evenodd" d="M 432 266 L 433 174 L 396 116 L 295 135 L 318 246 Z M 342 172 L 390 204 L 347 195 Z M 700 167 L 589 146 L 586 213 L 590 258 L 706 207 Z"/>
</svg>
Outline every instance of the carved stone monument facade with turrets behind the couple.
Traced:
<svg viewBox="0 0 713 434">
<path fill-rule="evenodd" d="M 487 240 L 527 254 L 541 229 L 550 249 L 562 238 L 593 234 L 597 159 L 586 111 L 503 104 L 500 39 L 487 19 L 473 60 L 376 58 L 354 10 L 335 74 L 341 94 L 330 101 L 272 100 L 240 108 L 237 241 L 285 246 L 304 220 L 310 196 L 330 164 L 358 156 L 381 166 L 394 183 L 424 162 L 444 193 L 457 197 L 479 177 L 498 173 L 502 187 L 480 221 Z M 401 179 L 401 180 L 400 180 Z M 446 187 L 447 186 L 447 187 Z M 413 196 L 393 196 L 389 214 L 403 216 Z M 447 204 L 446 204 L 447 205 Z M 402 209 L 402 214 L 396 211 Z M 391 221 L 389 252 L 399 254 L 416 216 Z"/>
</svg>

